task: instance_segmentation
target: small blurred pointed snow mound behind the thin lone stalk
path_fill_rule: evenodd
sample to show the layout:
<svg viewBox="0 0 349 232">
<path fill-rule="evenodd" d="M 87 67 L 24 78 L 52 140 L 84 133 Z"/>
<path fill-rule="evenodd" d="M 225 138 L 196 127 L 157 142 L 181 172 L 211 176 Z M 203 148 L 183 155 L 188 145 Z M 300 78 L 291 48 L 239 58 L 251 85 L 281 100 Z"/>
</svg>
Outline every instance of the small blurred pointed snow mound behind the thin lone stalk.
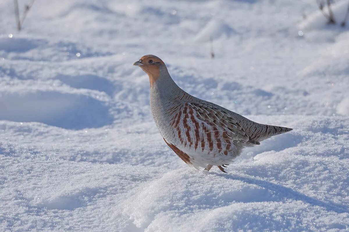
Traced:
<svg viewBox="0 0 349 232">
<path fill-rule="evenodd" d="M 208 42 L 210 41 L 210 38 L 229 38 L 235 34 L 237 34 L 236 31 L 225 22 L 217 19 L 212 19 L 196 34 L 194 41 Z"/>
</svg>

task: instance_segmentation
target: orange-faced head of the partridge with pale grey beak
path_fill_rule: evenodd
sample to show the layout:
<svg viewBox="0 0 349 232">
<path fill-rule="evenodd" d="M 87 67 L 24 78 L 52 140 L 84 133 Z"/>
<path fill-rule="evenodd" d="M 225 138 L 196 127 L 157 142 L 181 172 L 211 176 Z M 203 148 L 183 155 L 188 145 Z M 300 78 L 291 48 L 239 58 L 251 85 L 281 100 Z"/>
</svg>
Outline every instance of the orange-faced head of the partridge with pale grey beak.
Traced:
<svg viewBox="0 0 349 232">
<path fill-rule="evenodd" d="M 150 86 L 152 86 L 162 74 L 168 73 L 165 63 L 154 55 L 142 56 L 142 58 L 134 62 L 133 65 L 141 67 L 141 69 L 148 74 Z"/>
</svg>

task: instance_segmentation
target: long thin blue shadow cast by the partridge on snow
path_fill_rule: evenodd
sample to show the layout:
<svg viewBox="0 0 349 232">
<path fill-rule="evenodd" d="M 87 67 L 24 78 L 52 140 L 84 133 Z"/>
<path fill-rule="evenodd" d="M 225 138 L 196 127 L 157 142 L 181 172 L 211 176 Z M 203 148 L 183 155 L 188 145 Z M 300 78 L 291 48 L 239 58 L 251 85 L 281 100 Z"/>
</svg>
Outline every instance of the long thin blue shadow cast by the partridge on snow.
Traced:
<svg viewBox="0 0 349 232">
<path fill-rule="evenodd" d="M 272 191 L 275 196 L 282 200 L 287 200 L 287 199 L 292 199 L 292 200 L 297 200 L 297 201 L 303 201 L 305 203 L 308 203 L 312 206 L 319 206 L 325 208 L 327 211 L 334 211 L 336 213 L 349 213 L 349 209 L 346 206 L 339 205 L 333 202 L 324 202 L 318 199 L 315 199 L 313 197 L 308 197 L 307 195 L 303 193 L 299 193 L 290 187 L 285 187 L 280 184 L 275 184 L 273 182 L 269 181 L 263 181 L 263 180 L 258 180 L 258 179 L 253 179 L 253 178 L 248 178 L 248 177 L 242 177 L 238 175 L 233 175 L 233 174 L 217 174 L 223 178 L 227 179 L 234 179 L 238 181 L 245 182 L 247 184 L 254 184 L 258 185 L 260 187 L 263 187 L 265 189 L 268 189 Z"/>
</svg>

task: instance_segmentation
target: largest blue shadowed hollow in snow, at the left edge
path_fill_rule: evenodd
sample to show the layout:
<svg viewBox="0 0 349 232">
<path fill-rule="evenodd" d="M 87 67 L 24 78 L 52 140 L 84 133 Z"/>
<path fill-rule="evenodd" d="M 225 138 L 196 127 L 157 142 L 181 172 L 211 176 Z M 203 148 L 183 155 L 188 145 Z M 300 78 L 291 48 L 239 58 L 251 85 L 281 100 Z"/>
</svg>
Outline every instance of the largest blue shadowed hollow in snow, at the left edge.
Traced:
<svg viewBox="0 0 349 232">
<path fill-rule="evenodd" d="M 113 122 L 104 102 L 86 95 L 55 91 L 3 94 L 0 120 L 42 122 L 73 130 L 98 128 Z"/>
</svg>

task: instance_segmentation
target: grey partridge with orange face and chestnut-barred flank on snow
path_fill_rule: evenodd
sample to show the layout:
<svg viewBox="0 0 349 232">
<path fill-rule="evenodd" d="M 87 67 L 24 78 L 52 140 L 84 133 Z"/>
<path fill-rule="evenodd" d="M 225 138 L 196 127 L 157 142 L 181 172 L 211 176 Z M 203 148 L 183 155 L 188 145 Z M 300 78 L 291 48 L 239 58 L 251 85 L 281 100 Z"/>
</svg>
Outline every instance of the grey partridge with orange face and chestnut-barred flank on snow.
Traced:
<svg viewBox="0 0 349 232">
<path fill-rule="evenodd" d="M 165 143 L 187 165 L 222 172 L 245 147 L 292 128 L 260 124 L 222 106 L 186 93 L 171 78 L 165 63 L 145 55 L 133 65 L 149 76 L 150 109 Z"/>
</svg>

